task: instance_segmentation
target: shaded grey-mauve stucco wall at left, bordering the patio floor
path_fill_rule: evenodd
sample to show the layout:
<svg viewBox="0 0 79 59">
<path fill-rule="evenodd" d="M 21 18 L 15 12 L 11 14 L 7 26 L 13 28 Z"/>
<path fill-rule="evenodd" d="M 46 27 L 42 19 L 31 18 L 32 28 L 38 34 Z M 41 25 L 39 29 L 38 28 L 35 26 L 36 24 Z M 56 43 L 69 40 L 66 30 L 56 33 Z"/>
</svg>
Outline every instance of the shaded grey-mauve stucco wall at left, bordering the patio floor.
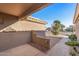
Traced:
<svg viewBox="0 0 79 59">
<path fill-rule="evenodd" d="M 1 32 L 0 51 L 13 48 L 31 41 L 31 32 Z"/>
</svg>

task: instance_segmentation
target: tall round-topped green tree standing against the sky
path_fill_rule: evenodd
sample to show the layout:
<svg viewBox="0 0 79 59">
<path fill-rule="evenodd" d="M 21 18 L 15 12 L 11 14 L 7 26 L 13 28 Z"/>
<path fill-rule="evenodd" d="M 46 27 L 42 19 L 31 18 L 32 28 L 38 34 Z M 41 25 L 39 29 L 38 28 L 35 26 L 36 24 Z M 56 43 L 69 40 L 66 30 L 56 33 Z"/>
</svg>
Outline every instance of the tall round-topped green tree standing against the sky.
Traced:
<svg viewBox="0 0 79 59">
<path fill-rule="evenodd" d="M 59 20 L 55 20 L 52 25 L 52 33 L 54 35 L 57 35 L 59 34 L 60 29 L 61 29 L 61 22 Z"/>
</svg>

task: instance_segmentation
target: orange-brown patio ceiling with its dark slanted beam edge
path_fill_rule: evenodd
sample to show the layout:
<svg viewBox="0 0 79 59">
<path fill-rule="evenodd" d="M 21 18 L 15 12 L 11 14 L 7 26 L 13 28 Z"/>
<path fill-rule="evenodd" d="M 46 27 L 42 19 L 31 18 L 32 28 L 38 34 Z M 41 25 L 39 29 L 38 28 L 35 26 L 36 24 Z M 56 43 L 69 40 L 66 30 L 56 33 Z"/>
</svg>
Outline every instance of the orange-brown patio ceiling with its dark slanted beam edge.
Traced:
<svg viewBox="0 0 79 59">
<path fill-rule="evenodd" d="M 18 17 L 32 14 L 48 6 L 48 3 L 2 3 L 0 4 L 0 12 Z"/>
</svg>

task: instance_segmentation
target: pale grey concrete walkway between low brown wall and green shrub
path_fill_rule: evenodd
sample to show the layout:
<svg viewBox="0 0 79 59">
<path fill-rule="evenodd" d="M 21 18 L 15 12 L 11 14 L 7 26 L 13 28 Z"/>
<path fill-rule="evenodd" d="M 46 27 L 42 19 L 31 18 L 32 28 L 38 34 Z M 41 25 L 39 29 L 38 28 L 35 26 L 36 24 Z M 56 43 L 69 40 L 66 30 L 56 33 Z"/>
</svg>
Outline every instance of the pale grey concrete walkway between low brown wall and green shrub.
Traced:
<svg viewBox="0 0 79 59">
<path fill-rule="evenodd" d="M 53 48 L 51 48 L 47 55 L 49 56 L 69 56 L 69 46 L 65 45 L 68 38 L 60 40 Z"/>
</svg>

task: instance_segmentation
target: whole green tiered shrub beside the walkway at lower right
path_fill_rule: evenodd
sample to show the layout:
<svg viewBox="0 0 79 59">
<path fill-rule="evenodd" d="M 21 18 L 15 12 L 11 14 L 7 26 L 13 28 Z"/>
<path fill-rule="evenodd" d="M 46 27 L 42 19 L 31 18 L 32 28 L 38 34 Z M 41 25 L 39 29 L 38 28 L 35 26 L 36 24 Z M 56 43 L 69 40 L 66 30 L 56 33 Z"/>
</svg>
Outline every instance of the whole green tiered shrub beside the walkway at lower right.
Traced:
<svg viewBox="0 0 79 59">
<path fill-rule="evenodd" d="M 75 34 L 71 34 L 68 37 L 69 37 L 70 40 L 68 42 L 65 42 L 65 44 L 68 45 L 68 46 L 73 47 L 73 50 L 75 51 L 75 53 L 74 52 L 70 52 L 70 55 L 76 56 L 76 54 L 79 53 L 77 51 L 76 47 L 75 47 L 75 46 L 79 46 L 79 42 L 77 42 L 77 37 L 76 37 Z"/>
</svg>

